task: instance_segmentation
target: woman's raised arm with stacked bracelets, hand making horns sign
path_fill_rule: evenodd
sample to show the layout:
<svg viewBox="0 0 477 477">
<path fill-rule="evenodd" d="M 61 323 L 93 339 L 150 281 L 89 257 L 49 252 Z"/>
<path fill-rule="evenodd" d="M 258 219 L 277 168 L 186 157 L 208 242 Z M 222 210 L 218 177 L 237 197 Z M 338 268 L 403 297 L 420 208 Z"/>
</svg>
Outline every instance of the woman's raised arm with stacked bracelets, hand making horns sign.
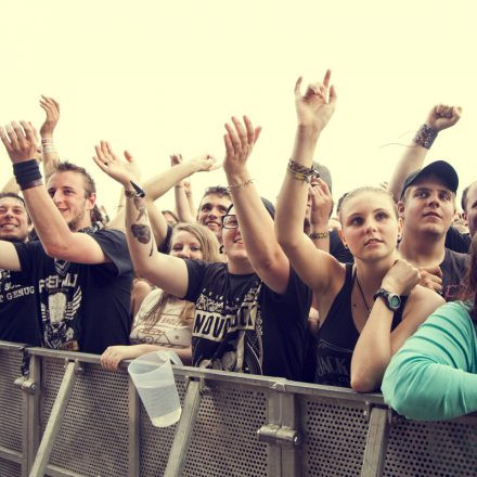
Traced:
<svg viewBox="0 0 477 477">
<path fill-rule="evenodd" d="M 310 85 L 301 95 L 301 78 L 295 85 L 297 130 L 295 144 L 276 205 L 275 233 L 294 269 L 314 292 L 324 291 L 339 276 L 341 266 L 328 254 L 315 248 L 304 233 L 309 182 L 313 177 L 312 158 L 321 131 L 336 105 L 331 72 L 323 83 Z M 341 270 L 343 271 L 343 270 Z"/>
</svg>

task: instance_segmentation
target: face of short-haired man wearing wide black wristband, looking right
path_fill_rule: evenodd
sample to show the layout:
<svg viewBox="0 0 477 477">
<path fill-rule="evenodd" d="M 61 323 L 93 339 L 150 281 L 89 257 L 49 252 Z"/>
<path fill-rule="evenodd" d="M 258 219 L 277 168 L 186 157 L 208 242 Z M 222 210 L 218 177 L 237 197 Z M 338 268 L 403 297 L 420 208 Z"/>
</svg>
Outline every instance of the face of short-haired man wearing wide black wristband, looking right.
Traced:
<svg viewBox="0 0 477 477">
<path fill-rule="evenodd" d="M 81 173 L 55 172 L 50 177 L 47 188 L 54 205 L 73 232 L 91 225 L 91 210 L 94 207 L 95 194 L 87 196 Z"/>
</svg>

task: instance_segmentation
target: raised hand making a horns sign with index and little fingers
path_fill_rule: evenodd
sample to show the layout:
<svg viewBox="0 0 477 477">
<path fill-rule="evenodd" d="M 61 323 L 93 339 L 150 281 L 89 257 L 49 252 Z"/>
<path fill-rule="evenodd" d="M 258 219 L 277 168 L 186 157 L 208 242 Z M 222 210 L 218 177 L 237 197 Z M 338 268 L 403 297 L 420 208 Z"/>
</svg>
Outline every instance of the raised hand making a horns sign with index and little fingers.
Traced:
<svg viewBox="0 0 477 477">
<path fill-rule="evenodd" d="M 311 127 L 321 131 L 333 116 L 336 106 L 336 91 L 330 86 L 331 70 L 327 69 L 323 82 L 309 85 L 306 93 L 300 91 L 301 80 L 299 77 L 295 85 L 295 107 L 298 126 Z"/>
</svg>

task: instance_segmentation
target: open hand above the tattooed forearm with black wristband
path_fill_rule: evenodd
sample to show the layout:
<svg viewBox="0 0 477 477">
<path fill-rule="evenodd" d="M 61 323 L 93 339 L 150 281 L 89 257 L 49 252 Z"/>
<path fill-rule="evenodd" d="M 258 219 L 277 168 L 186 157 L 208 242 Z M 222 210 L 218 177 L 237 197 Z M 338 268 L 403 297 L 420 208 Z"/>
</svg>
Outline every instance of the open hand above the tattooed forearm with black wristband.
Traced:
<svg viewBox="0 0 477 477">
<path fill-rule="evenodd" d="M 139 183 L 140 169 L 128 151 L 125 151 L 126 160 L 123 160 L 113 152 L 106 141 L 101 141 L 100 145 L 95 145 L 94 149 L 96 155 L 93 156 L 93 160 L 102 171 L 125 186 L 130 185 L 131 181 Z"/>
</svg>

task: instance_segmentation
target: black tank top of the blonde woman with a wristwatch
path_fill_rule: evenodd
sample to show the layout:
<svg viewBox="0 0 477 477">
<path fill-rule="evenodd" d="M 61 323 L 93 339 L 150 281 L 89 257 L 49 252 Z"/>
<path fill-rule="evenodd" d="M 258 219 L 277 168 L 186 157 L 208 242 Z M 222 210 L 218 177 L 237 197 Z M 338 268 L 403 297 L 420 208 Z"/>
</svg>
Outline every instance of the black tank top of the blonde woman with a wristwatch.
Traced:
<svg viewBox="0 0 477 477">
<path fill-rule="evenodd" d="M 350 387 L 351 356 L 360 336 L 351 312 L 353 283 L 352 263 L 346 263 L 345 283 L 318 333 L 314 375 L 318 384 Z M 391 330 L 401 322 L 407 299 L 407 296 L 401 297 L 401 307 L 395 312 Z"/>
</svg>

